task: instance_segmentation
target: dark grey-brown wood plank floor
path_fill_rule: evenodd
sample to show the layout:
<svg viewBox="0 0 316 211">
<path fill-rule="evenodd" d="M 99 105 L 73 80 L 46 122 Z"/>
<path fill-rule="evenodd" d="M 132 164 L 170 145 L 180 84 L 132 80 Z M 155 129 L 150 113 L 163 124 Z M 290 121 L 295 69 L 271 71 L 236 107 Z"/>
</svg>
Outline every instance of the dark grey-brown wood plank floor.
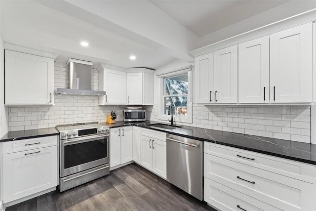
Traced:
<svg viewBox="0 0 316 211">
<path fill-rule="evenodd" d="M 77 188 L 39 196 L 6 211 L 215 211 L 152 172 L 130 164 Z"/>
</svg>

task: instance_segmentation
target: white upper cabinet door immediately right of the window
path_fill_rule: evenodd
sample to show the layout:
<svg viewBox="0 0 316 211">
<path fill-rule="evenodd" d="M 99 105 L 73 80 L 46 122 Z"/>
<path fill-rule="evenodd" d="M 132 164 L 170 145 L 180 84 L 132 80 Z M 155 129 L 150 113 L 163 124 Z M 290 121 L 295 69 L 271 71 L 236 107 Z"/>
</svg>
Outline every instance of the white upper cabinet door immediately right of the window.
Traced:
<svg viewBox="0 0 316 211">
<path fill-rule="evenodd" d="M 214 102 L 214 53 L 196 57 L 194 70 L 195 103 Z"/>
</svg>

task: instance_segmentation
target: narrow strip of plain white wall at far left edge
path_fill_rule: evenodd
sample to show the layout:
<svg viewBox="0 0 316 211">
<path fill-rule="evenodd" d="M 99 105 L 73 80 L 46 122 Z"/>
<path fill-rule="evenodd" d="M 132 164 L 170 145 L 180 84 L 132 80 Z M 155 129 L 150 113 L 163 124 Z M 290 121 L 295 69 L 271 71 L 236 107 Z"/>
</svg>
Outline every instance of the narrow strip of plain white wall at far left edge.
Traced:
<svg viewBox="0 0 316 211">
<path fill-rule="evenodd" d="M 0 137 L 8 132 L 8 107 L 4 106 L 4 49 L 0 37 Z"/>
</svg>

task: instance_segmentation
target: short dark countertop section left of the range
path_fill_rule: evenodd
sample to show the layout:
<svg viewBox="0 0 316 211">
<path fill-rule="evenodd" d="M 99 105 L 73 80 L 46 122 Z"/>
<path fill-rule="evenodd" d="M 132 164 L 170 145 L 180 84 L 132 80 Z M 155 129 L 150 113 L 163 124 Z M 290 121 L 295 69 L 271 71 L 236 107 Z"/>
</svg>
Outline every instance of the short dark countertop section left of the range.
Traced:
<svg viewBox="0 0 316 211">
<path fill-rule="evenodd" d="M 0 139 L 0 142 L 13 141 L 13 139 L 21 140 L 21 139 L 27 139 L 27 138 L 37 138 L 37 137 L 58 135 L 58 134 L 59 132 L 55 129 L 55 127 L 11 131 L 3 135 Z"/>
</svg>

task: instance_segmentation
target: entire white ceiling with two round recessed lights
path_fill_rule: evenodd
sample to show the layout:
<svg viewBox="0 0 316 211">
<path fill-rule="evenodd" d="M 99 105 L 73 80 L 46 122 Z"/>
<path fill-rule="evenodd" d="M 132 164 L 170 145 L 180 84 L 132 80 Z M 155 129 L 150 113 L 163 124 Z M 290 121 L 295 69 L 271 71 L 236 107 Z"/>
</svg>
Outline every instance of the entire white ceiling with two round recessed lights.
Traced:
<svg viewBox="0 0 316 211">
<path fill-rule="evenodd" d="M 48 52 L 57 62 L 72 57 L 92 61 L 94 67 L 102 62 L 156 69 L 175 59 L 193 62 L 188 52 L 201 44 L 211 44 L 208 36 L 214 32 L 256 14 L 270 14 L 271 8 L 275 8 L 274 13 L 282 13 L 287 3 L 285 0 L 0 0 L 0 34 L 7 49 L 46 56 Z M 311 6 L 314 4 L 304 9 Z M 293 15 L 297 14 L 292 10 Z M 277 21 L 279 16 L 275 19 L 269 21 Z M 89 46 L 80 46 L 81 41 L 89 42 Z M 135 61 L 129 59 L 132 54 L 137 57 Z"/>
</svg>

